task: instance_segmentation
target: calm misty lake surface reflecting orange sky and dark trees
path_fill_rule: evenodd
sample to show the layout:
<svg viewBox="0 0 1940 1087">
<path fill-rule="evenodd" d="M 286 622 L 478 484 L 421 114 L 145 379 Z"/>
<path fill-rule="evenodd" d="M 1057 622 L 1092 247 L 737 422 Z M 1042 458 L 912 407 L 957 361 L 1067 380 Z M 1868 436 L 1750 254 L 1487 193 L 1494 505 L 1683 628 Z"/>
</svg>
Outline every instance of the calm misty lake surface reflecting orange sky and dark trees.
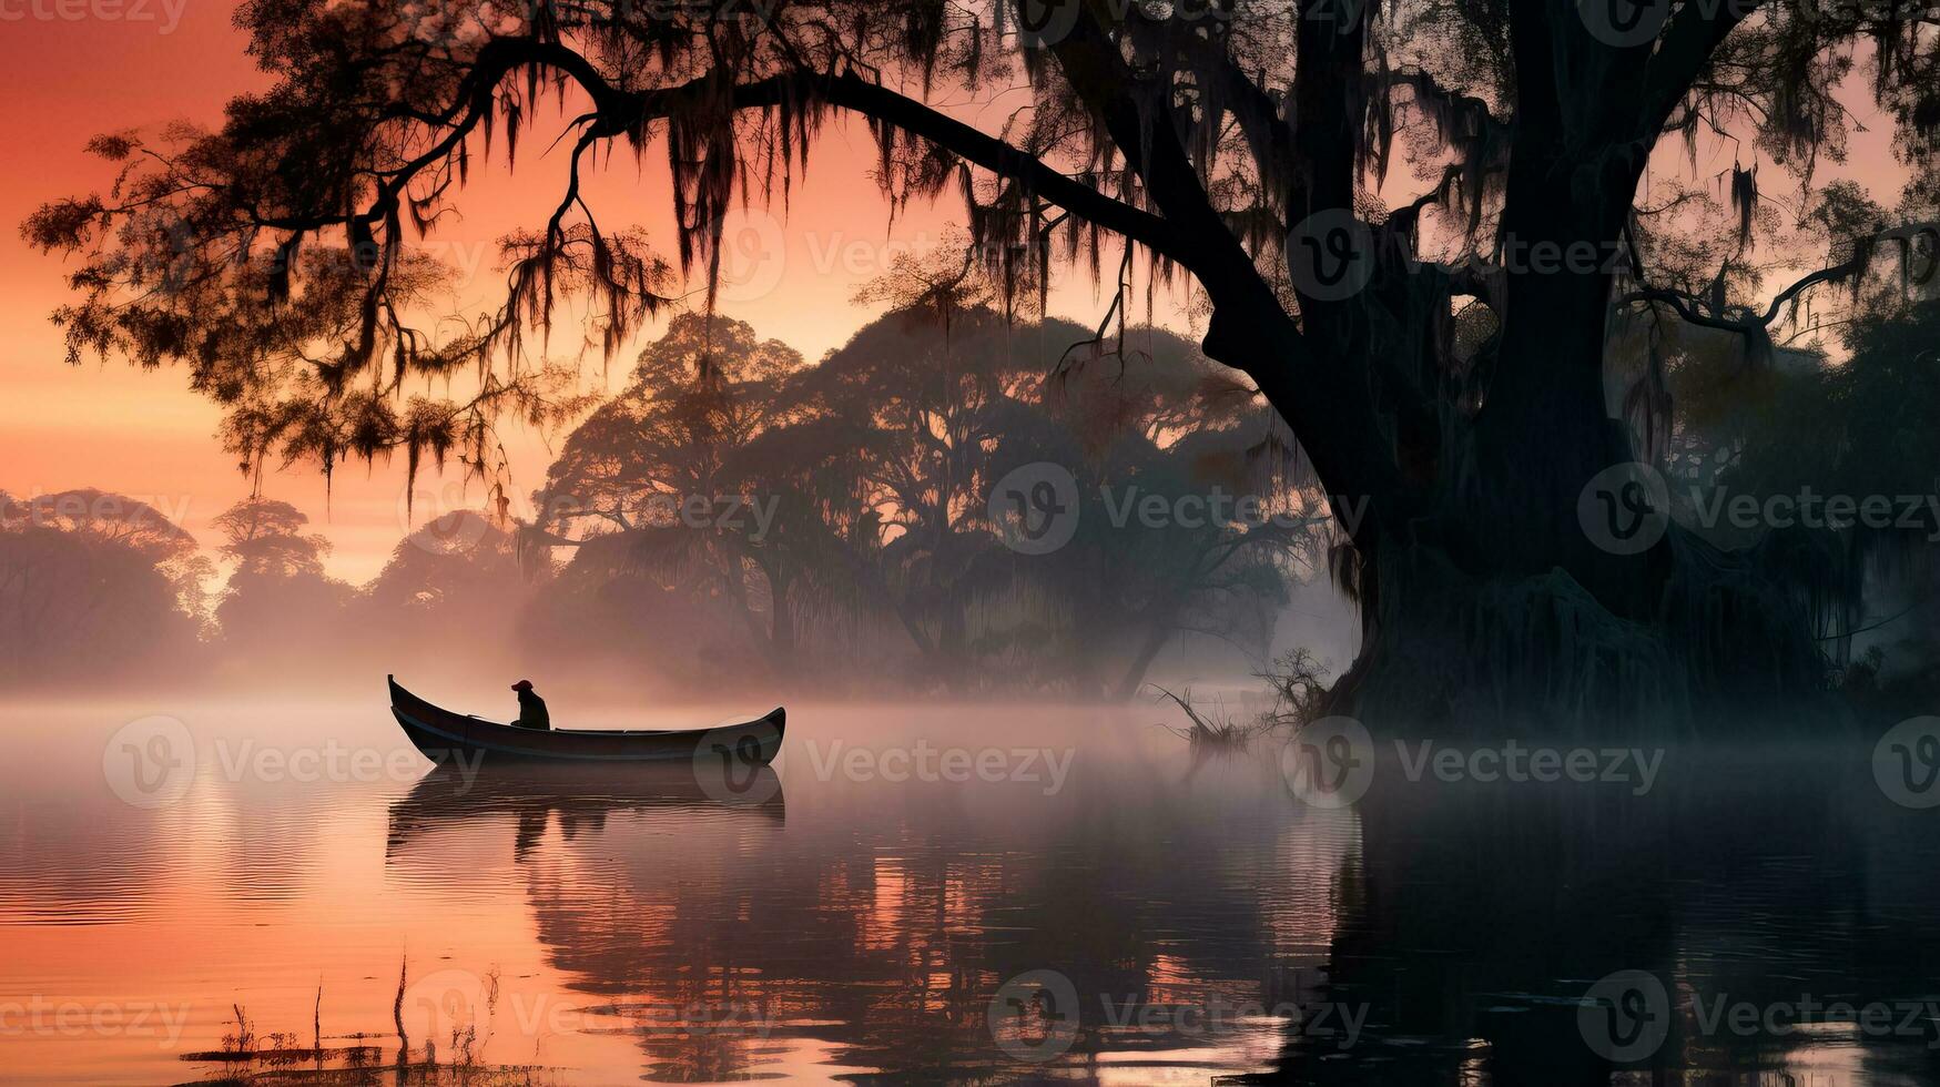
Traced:
<svg viewBox="0 0 1940 1087">
<path fill-rule="evenodd" d="M 371 701 L 16 705 L 0 1079 L 1936 1079 L 1940 809 L 1870 743 L 1643 796 L 1383 755 L 1321 809 L 1162 716 L 799 707 L 724 790 L 425 773 Z"/>
</svg>

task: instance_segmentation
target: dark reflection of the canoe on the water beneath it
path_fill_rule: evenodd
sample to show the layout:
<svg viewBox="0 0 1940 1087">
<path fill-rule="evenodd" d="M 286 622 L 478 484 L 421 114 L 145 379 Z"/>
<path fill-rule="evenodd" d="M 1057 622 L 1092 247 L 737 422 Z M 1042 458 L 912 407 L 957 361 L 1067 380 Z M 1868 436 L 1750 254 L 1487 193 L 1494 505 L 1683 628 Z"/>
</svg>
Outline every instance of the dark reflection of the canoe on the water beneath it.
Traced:
<svg viewBox="0 0 1940 1087">
<path fill-rule="evenodd" d="M 599 831 L 607 815 L 638 813 L 673 827 L 733 819 L 780 825 L 788 815 L 782 778 L 770 767 L 722 771 L 679 765 L 438 767 L 390 806 L 386 858 L 446 827 L 512 819 L 514 860 L 547 827 L 566 839 Z"/>
</svg>

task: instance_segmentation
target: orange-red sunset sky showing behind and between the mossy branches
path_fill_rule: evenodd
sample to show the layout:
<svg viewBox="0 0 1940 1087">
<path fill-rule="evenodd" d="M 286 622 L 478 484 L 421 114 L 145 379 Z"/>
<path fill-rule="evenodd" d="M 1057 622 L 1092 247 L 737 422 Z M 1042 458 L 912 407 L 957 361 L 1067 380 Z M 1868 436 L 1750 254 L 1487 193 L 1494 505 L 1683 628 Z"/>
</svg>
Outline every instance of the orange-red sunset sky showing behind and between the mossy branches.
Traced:
<svg viewBox="0 0 1940 1087">
<path fill-rule="evenodd" d="M 16 6 L 33 12 L 27 6 Z M 8 8 L 6 12 L 14 12 Z M 43 8 L 52 10 L 52 8 Z M 101 8 L 109 10 L 109 8 Z M 248 491 L 235 464 L 213 441 L 217 412 L 184 388 L 177 371 L 138 373 L 126 365 L 62 365 L 58 330 L 48 313 L 66 299 L 62 274 L 70 262 L 31 252 L 17 223 L 41 202 L 101 190 L 113 167 L 80 151 L 105 130 L 157 126 L 173 118 L 213 122 L 237 89 L 260 87 L 266 78 L 244 56 L 244 39 L 231 25 L 227 0 L 146 0 L 147 19 L 23 17 L 0 21 L 0 66 L 12 74 L 8 107 L 0 115 L 0 146 L 16 151 L 0 177 L 0 489 L 16 495 L 72 487 L 103 487 L 153 501 L 208 544 L 208 520 Z M 167 31 L 167 33 L 165 33 Z M 986 128 L 1001 124 L 1022 101 L 1018 93 L 986 95 L 987 101 L 953 103 L 951 111 Z M 1855 95 L 1857 97 L 1857 95 Z M 1864 120 L 1872 111 L 1860 109 Z M 532 225 L 551 210 L 563 153 L 537 155 L 557 128 L 545 118 L 526 136 L 516 175 L 495 163 L 460 198 L 466 217 L 436 235 L 442 256 L 469 270 L 462 299 L 479 311 L 497 297 L 501 278 L 493 268 L 493 241 L 514 225 Z M 1855 136 L 1860 173 L 1895 167 L 1886 155 L 1888 126 L 1874 124 Z M 856 287 L 877 276 L 896 248 L 925 247 L 947 225 L 962 219 L 954 196 L 929 208 L 910 208 L 894 225 L 867 171 L 875 149 L 859 124 L 830 124 L 807 179 L 797 179 L 786 219 L 755 214 L 729 221 L 731 241 L 743 260 L 747 285 L 729 287 L 722 311 L 755 324 L 762 336 L 780 338 L 805 357 L 821 357 L 875 314 L 850 303 Z M 1727 163 L 1701 163 L 1709 175 Z M 1410 188 L 1412 181 L 1399 181 Z M 1897 181 L 1876 188 L 1893 198 Z M 1405 196 L 1397 190 L 1397 196 Z M 621 161 L 598 173 L 588 198 L 607 229 L 640 223 L 656 239 L 669 239 L 663 167 L 648 161 L 634 169 Z M 735 233 L 735 227 L 741 227 Z M 671 250 L 671 247 L 669 247 Z M 1067 272 L 1053 291 L 1051 311 L 1096 322 L 1104 301 L 1088 274 Z M 1154 314 L 1162 324 L 1183 324 L 1172 305 Z M 648 336 L 656 330 L 648 330 Z M 638 346 L 623 351 L 613 380 Z M 1055 347 L 1053 347 L 1055 351 Z M 601 382 L 598 361 L 588 380 Z M 516 491 L 530 491 L 543 476 L 547 454 L 539 435 L 506 431 L 514 446 Z M 351 580 L 374 575 L 405 532 L 402 466 L 340 472 L 326 511 L 322 478 L 308 468 L 281 472 L 266 493 L 297 503 L 336 544 L 332 573 Z M 456 476 L 423 481 L 433 512 L 479 503 Z M 419 507 L 423 509 L 423 501 Z M 419 524 L 423 512 L 419 512 Z"/>
</svg>

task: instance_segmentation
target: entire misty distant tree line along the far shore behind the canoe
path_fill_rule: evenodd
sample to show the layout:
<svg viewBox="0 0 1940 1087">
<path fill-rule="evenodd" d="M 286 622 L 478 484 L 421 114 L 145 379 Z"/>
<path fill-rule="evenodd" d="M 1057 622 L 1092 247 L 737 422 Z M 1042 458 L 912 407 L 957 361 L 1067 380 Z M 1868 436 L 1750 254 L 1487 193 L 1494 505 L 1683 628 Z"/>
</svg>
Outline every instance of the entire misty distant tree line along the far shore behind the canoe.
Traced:
<svg viewBox="0 0 1940 1087">
<path fill-rule="evenodd" d="M 365 586 L 268 497 L 211 522 L 221 569 L 132 499 L 10 499 L 0 672 L 442 660 L 1129 697 L 1168 648 L 1265 662 L 1331 545 L 1284 425 L 1170 332 L 1106 351 L 949 276 L 912 281 L 815 365 L 726 316 L 673 318 L 565 437 L 528 516 L 433 512 Z M 1017 474 L 1055 481 L 1053 505 L 993 503 Z M 1013 547 L 1018 516 L 1069 538 Z"/>
</svg>

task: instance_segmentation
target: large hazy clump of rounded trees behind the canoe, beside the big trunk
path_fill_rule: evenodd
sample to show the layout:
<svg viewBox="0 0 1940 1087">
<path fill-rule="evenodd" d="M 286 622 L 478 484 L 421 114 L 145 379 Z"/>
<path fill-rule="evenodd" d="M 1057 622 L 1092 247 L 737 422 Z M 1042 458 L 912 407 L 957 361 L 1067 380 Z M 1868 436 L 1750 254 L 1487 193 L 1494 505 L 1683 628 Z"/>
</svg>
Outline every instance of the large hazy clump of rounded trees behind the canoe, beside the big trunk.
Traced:
<svg viewBox="0 0 1940 1087">
<path fill-rule="evenodd" d="M 1172 334 L 1135 330 L 1145 349 L 1059 371 L 1077 338 L 923 305 L 809 367 L 741 322 L 675 318 L 535 495 L 526 545 L 572 555 L 549 629 L 677 672 L 1117 697 L 1181 635 L 1263 654 L 1284 582 L 1313 575 L 1327 536 L 1302 478 L 1263 452 L 1277 427 Z M 1073 472 L 1079 528 L 1018 555 L 987 503 L 1040 462 Z M 1273 520 L 1141 524 L 1125 507 L 1222 491 Z M 669 629 L 691 664 L 665 660 Z"/>
</svg>

